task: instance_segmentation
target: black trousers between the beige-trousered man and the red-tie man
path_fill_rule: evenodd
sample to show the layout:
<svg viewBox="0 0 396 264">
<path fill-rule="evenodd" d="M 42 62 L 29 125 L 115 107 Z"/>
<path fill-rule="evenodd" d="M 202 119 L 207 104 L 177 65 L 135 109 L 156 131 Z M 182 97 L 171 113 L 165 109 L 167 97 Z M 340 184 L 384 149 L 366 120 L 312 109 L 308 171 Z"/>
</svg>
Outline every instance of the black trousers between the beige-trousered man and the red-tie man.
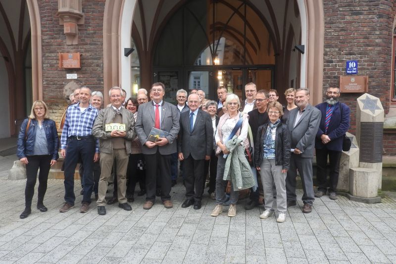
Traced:
<svg viewBox="0 0 396 264">
<path fill-rule="evenodd" d="M 134 196 L 137 182 L 139 182 L 141 190 L 146 189 L 146 170 L 138 169 L 139 160 L 145 160 L 145 157 L 142 153 L 129 155 L 127 168 L 127 196 Z"/>
</svg>

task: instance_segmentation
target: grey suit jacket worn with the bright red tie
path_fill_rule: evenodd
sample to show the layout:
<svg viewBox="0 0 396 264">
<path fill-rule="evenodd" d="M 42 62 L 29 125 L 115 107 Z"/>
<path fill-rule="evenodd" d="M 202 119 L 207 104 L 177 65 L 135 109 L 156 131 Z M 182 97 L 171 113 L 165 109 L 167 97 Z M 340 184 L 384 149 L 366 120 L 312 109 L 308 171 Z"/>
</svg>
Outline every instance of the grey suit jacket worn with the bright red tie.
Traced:
<svg viewBox="0 0 396 264">
<path fill-rule="evenodd" d="M 180 111 L 176 106 L 169 104 L 168 102 L 162 101 L 162 112 L 161 112 L 161 130 L 168 132 L 166 136 L 169 143 L 165 146 L 155 146 L 149 149 L 145 143 L 147 142 L 148 134 L 150 134 L 151 128 L 154 127 L 154 105 L 150 101 L 139 106 L 138 117 L 136 118 L 135 130 L 139 137 L 139 141 L 142 144 L 143 154 L 155 154 L 157 149 L 162 155 L 170 155 L 177 152 L 176 137 L 179 133 L 180 124 Z"/>
</svg>

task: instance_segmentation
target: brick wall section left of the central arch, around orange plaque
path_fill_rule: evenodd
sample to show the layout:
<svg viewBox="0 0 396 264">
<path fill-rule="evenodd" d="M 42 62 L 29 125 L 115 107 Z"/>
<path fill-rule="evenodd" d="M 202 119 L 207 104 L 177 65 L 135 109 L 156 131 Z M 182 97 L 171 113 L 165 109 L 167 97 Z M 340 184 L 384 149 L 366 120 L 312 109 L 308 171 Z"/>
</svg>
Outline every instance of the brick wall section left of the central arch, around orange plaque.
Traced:
<svg viewBox="0 0 396 264">
<path fill-rule="evenodd" d="M 84 25 L 78 25 L 78 45 L 66 45 L 63 25 L 59 25 L 57 0 L 39 0 L 44 101 L 49 105 L 50 118 L 58 124 L 67 103 L 63 88 L 70 81 L 103 92 L 103 12 L 105 0 L 84 0 Z M 58 68 L 58 53 L 81 53 L 81 69 Z M 77 73 L 77 80 L 67 80 L 66 73 Z"/>
</svg>

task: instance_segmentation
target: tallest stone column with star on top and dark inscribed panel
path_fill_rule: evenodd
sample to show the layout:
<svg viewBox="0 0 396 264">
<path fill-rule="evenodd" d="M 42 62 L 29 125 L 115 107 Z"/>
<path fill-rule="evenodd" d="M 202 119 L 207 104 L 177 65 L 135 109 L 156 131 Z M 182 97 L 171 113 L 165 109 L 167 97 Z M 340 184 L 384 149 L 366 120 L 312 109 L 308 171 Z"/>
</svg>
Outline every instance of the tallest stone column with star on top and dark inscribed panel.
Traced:
<svg viewBox="0 0 396 264">
<path fill-rule="evenodd" d="M 384 108 L 380 99 L 369 94 L 360 96 L 356 107 L 356 140 L 360 149 L 359 167 L 373 169 L 373 172 L 369 173 L 369 181 L 370 183 L 376 181 L 378 189 L 382 188 L 383 130 Z"/>
</svg>

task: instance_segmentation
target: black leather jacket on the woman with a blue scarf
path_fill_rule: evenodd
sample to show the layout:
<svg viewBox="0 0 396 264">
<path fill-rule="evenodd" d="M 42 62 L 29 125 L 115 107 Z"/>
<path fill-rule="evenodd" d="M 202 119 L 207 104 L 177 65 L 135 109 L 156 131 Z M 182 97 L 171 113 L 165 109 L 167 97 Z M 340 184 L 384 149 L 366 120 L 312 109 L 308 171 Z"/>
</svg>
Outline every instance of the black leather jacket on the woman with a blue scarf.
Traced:
<svg viewBox="0 0 396 264">
<path fill-rule="evenodd" d="M 265 133 L 267 131 L 269 122 L 261 125 L 257 129 L 257 137 L 254 142 L 254 166 L 260 167 L 263 159 L 263 146 Z M 275 132 L 275 165 L 282 165 L 282 169 L 289 169 L 290 167 L 290 146 L 291 134 L 287 129 L 286 124 L 280 124 Z"/>
</svg>

